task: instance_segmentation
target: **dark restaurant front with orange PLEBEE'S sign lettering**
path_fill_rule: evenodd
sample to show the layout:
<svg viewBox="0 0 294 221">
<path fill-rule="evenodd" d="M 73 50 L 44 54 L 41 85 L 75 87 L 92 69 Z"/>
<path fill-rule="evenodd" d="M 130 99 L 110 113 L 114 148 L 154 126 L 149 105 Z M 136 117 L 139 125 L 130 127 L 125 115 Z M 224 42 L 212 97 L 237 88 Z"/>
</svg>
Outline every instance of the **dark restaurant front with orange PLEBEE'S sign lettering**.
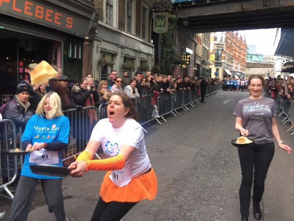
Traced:
<svg viewBox="0 0 294 221">
<path fill-rule="evenodd" d="M 63 74 L 81 77 L 92 54 L 89 43 L 98 15 L 92 0 L 0 2 L 1 94 L 14 94 L 30 63 L 46 60 Z"/>
</svg>

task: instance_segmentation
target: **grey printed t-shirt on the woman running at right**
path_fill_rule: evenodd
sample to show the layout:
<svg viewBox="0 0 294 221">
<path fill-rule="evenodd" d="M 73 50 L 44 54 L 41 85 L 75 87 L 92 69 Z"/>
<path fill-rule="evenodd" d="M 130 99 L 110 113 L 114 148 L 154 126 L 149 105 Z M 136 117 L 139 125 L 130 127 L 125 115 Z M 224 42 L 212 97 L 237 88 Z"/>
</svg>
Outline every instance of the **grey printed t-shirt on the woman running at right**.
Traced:
<svg viewBox="0 0 294 221">
<path fill-rule="evenodd" d="M 273 142 L 271 119 L 276 116 L 275 102 L 271 98 L 239 100 L 234 116 L 242 118 L 242 126 L 249 131 L 248 137 L 257 144 Z"/>
</svg>

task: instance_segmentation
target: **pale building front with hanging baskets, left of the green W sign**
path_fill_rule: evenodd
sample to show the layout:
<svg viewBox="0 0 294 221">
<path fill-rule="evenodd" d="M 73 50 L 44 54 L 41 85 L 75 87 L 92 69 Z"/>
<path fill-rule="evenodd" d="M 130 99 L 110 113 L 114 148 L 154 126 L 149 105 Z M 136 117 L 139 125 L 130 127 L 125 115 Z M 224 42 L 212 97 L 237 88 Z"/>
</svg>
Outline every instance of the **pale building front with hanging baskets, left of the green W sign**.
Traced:
<svg viewBox="0 0 294 221">
<path fill-rule="evenodd" d="M 106 79 L 110 70 L 123 74 L 122 65 L 131 61 L 133 76 L 143 63 L 152 66 L 151 11 L 153 0 L 94 0 L 99 12 L 98 31 L 93 44 L 92 73 Z M 110 63 L 102 62 L 107 58 Z M 127 66 L 129 68 L 129 66 Z"/>
</svg>

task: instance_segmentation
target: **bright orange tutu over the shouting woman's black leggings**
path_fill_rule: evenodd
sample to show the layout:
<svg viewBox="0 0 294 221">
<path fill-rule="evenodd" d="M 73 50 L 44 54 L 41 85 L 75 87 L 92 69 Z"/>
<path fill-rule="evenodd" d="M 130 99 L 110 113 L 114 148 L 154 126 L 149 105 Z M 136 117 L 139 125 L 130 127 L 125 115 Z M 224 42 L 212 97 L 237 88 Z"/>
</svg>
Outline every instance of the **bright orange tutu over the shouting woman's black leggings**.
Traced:
<svg viewBox="0 0 294 221">
<path fill-rule="evenodd" d="M 153 168 L 143 175 L 132 178 L 126 186 L 115 185 L 108 171 L 101 183 L 100 196 L 104 202 L 139 202 L 142 199 L 154 199 L 157 193 L 157 178 Z"/>
</svg>

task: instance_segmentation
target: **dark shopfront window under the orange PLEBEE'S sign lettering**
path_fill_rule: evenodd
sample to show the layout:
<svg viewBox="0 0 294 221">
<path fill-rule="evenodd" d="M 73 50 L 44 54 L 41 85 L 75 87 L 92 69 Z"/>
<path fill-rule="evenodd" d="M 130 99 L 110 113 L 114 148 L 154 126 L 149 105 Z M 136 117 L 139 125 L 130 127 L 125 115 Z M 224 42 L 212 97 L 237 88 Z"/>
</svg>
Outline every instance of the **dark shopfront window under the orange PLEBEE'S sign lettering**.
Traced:
<svg viewBox="0 0 294 221">
<path fill-rule="evenodd" d="M 52 62 L 52 42 L 0 30 L 0 94 L 15 94 L 18 82 L 28 76 L 28 65 Z"/>
</svg>

